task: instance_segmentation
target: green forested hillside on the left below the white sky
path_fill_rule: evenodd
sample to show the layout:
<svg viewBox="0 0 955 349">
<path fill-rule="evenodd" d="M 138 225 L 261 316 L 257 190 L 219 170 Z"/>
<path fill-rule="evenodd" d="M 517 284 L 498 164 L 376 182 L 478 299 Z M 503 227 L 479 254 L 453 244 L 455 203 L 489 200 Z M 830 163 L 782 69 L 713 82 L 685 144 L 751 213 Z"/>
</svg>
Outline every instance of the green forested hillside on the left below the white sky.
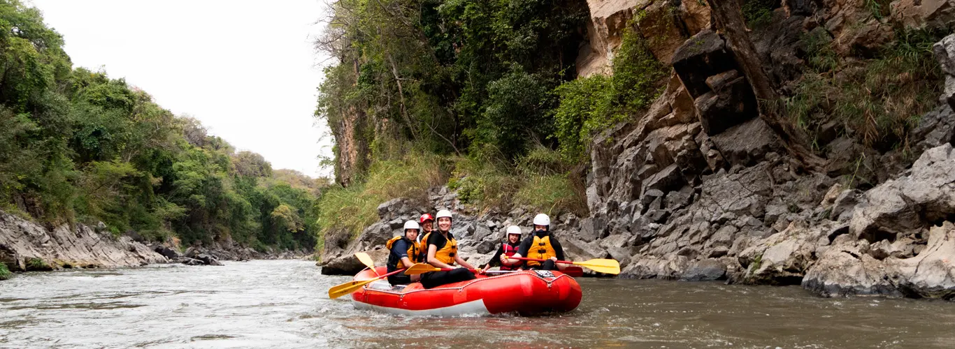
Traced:
<svg viewBox="0 0 955 349">
<path fill-rule="evenodd" d="M 74 68 L 63 44 L 38 10 L 0 1 L 0 209 L 183 245 L 315 245 L 321 181 L 237 152 L 123 79 Z"/>
</svg>

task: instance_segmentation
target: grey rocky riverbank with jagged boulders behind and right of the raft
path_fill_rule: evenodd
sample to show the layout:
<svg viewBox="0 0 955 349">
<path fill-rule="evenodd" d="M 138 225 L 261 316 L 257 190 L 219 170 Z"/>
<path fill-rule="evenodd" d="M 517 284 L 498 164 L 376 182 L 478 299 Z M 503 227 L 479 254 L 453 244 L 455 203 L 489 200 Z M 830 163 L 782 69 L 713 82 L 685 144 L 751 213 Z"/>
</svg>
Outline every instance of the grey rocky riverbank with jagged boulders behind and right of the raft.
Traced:
<svg viewBox="0 0 955 349">
<path fill-rule="evenodd" d="M 753 39 L 775 75 L 796 74 L 798 64 L 786 64 L 798 60 L 792 38 L 810 20 L 794 15 L 778 35 Z M 552 217 L 567 255 L 615 258 L 620 277 L 955 298 L 955 36 L 934 48 L 944 103 L 914 125 L 906 149 L 875 151 L 830 125 L 817 139 L 827 167 L 812 172 L 757 117 L 728 50 L 720 34 L 700 31 L 674 52 L 668 88 L 647 114 L 594 139 L 590 216 Z M 323 274 L 362 269 L 351 257 L 359 251 L 383 264 L 383 244 L 405 220 L 444 208 L 456 213 L 459 251 L 477 263 L 492 256 L 507 225 L 526 234 L 536 214 L 479 214 L 447 188 L 435 188 L 430 202 L 393 199 L 360 236 L 326 236 Z"/>
</svg>

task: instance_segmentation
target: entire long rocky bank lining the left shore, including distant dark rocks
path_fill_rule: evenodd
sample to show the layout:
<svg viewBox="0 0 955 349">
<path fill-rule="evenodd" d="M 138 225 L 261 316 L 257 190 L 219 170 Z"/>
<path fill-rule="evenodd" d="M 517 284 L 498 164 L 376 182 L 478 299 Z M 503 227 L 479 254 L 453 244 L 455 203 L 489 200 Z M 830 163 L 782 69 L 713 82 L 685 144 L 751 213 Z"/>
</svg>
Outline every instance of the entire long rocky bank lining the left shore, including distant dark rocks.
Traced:
<svg viewBox="0 0 955 349">
<path fill-rule="evenodd" d="M 238 244 L 216 243 L 190 247 L 184 253 L 169 246 L 114 236 L 105 226 L 74 228 L 61 225 L 49 230 L 19 216 L 0 211 L 0 263 L 11 271 L 46 271 L 70 268 L 121 268 L 151 263 L 221 265 L 220 260 L 291 259 L 306 251 L 258 252 Z"/>
</svg>

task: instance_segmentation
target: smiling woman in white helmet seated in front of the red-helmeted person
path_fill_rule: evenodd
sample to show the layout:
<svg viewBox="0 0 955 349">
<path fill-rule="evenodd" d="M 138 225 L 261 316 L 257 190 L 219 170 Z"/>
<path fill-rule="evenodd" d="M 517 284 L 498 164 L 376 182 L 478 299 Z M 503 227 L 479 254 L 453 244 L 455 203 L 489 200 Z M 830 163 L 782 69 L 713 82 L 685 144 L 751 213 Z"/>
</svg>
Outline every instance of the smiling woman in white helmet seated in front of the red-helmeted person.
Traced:
<svg viewBox="0 0 955 349">
<path fill-rule="evenodd" d="M 457 254 L 457 240 L 451 234 L 451 211 L 441 210 L 435 216 L 437 230 L 422 237 L 424 247 L 428 251 L 425 261 L 435 268 L 451 268 L 450 271 L 430 272 L 421 275 L 421 285 L 424 288 L 435 288 L 440 285 L 466 281 L 476 278 L 469 269 L 474 269 L 470 263 L 464 261 Z M 463 268 L 455 269 L 455 263 Z M 467 268 L 467 269 L 465 269 Z"/>
</svg>

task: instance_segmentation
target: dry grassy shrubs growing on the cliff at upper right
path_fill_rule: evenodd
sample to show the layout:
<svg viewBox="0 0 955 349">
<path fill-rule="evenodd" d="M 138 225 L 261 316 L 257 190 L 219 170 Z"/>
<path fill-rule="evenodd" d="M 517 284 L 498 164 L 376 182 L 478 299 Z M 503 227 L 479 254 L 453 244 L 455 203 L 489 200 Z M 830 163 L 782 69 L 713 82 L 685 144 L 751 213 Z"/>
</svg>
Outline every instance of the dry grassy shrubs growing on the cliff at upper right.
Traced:
<svg viewBox="0 0 955 349">
<path fill-rule="evenodd" d="M 824 31 L 804 39 L 807 72 L 787 99 L 793 121 L 817 137 L 836 121 L 866 146 L 882 152 L 907 149 L 908 133 L 938 105 L 943 75 L 932 55 L 941 38 L 927 31 L 897 32 L 897 41 L 865 59 L 844 59 Z"/>
</svg>

